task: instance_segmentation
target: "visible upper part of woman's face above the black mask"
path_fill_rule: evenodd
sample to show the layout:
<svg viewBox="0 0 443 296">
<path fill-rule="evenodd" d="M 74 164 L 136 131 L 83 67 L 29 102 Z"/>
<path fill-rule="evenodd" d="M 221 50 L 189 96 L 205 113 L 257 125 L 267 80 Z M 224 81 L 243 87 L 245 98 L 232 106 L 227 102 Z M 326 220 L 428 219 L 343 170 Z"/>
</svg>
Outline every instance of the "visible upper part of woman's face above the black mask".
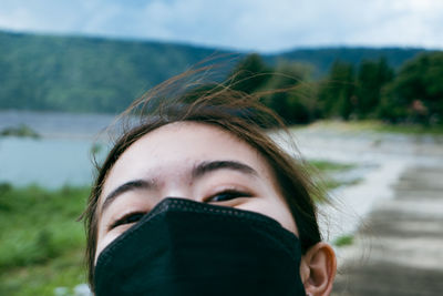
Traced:
<svg viewBox="0 0 443 296">
<path fill-rule="evenodd" d="M 219 127 L 177 122 L 141 137 L 111 170 L 99 200 L 96 257 L 165 197 L 254 211 L 298 235 L 257 151 Z"/>
</svg>

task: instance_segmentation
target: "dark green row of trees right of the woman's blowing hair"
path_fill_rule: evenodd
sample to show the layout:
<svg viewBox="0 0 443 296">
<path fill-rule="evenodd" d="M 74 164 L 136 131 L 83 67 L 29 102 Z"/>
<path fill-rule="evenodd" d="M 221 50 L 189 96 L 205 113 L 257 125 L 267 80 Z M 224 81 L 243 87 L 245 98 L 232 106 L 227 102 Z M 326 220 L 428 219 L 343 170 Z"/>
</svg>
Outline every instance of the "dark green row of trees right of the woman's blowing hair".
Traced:
<svg viewBox="0 0 443 296">
<path fill-rule="evenodd" d="M 246 93 L 267 93 L 262 103 L 288 124 L 319 119 L 443 124 L 443 52 L 419 54 L 398 71 L 380 58 L 357 67 L 337 60 L 318 81 L 311 73 L 309 64 L 269 67 L 254 53 L 235 67 L 227 83 Z"/>
</svg>

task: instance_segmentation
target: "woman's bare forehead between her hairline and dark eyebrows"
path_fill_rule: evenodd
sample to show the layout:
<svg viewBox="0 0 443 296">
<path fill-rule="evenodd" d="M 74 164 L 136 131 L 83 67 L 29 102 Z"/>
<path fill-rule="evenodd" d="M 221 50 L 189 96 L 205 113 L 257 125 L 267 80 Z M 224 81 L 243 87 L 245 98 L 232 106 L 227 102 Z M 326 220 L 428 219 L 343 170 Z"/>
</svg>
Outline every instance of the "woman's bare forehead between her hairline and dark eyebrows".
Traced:
<svg viewBox="0 0 443 296">
<path fill-rule="evenodd" d="M 222 127 L 194 122 L 176 122 L 158 127 L 137 140 L 112 167 L 102 195 L 112 186 L 147 176 L 174 178 L 197 162 L 240 161 L 270 178 L 264 157 L 245 141 Z"/>
</svg>

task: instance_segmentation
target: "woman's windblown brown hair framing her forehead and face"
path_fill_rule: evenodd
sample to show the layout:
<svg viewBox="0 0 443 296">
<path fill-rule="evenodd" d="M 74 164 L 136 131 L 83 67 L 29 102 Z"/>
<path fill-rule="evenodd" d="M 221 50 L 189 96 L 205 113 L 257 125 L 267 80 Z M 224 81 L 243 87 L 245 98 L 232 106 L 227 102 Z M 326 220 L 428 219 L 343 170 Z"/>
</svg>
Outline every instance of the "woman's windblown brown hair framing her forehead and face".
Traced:
<svg viewBox="0 0 443 296">
<path fill-rule="evenodd" d="M 223 84 L 184 83 L 200 73 L 189 71 L 171 79 L 135 101 L 120 118 L 121 136 L 97 167 L 89 204 L 83 213 L 86 231 L 87 279 L 92 290 L 97 236 L 97 204 L 111 169 L 134 142 L 151 131 L 173 122 L 192 121 L 218 126 L 249 144 L 268 162 L 281 194 L 286 198 L 299 229 L 301 251 L 321 241 L 315 198 L 323 196 L 308 177 L 305 165 L 286 153 L 268 134 L 268 129 L 289 131 L 281 120 L 259 103 L 262 93 L 246 94 Z M 195 81 L 192 80 L 192 81 Z M 185 86 L 184 86 L 185 85 Z M 190 85 L 190 91 L 189 91 Z M 134 114 L 140 122 L 134 124 Z"/>
</svg>

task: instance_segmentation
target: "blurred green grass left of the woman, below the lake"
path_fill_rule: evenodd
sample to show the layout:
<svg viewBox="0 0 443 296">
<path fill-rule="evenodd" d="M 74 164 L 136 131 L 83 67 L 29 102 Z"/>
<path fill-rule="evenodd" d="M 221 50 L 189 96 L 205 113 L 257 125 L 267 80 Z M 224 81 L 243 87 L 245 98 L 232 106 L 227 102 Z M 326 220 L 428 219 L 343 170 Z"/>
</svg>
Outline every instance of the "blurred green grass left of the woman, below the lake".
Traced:
<svg viewBox="0 0 443 296">
<path fill-rule="evenodd" d="M 0 185 L 0 295 L 53 295 L 85 283 L 85 237 L 75 220 L 87 194 Z"/>
</svg>

